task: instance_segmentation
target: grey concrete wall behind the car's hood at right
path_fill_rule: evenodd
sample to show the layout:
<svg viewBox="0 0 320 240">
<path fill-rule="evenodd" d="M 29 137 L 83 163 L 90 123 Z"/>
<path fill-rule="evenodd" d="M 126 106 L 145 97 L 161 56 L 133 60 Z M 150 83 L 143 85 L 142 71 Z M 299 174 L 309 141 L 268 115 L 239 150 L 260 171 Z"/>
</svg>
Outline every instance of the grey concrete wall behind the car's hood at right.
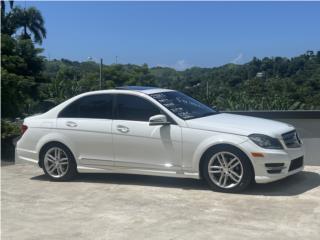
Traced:
<svg viewBox="0 0 320 240">
<path fill-rule="evenodd" d="M 320 166 L 320 111 L 234 111 L 229 113 L 263 117 L 295 126 L 304 143 L 306 165 Z"/>
</svg>

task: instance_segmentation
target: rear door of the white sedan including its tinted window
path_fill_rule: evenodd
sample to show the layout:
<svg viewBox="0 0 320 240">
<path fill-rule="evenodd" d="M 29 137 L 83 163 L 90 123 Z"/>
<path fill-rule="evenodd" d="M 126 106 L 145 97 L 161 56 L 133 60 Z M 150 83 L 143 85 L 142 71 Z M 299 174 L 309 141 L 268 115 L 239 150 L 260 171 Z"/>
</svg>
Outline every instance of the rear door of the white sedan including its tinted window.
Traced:
<svg viewBox="0 0 320 240">
<path fill-rule="evenodd" d="M 84 96 L 63 109 L 57 128 L 63 133 L 80 165 L 113 165 L 112 94 Z"/>
</svg>

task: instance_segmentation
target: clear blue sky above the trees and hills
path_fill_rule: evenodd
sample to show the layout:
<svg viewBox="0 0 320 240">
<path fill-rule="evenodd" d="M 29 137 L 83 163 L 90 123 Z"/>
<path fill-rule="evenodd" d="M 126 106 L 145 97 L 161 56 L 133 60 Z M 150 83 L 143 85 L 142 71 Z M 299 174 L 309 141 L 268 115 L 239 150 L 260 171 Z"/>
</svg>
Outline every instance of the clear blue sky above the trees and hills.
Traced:
<svg viewBox="0 0 320 240">
<path fill-rule="evenodd" d="M 320 50 L 320 2 L 16 2 L 45 19 L 50 59 L 216 67 Z M 116 60 L 117 59 L 117 60 Z"/>
</svg>

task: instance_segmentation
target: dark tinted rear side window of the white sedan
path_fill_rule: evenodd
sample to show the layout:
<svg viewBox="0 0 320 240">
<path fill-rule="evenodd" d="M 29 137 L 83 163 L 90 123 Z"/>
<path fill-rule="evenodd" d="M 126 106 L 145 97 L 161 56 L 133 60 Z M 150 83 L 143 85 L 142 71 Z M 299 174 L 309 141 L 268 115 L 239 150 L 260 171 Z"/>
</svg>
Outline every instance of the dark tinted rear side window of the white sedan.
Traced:
<svg viewBox="0 0 320 240">
<path fill-rule="evenodd" d="M 111 94 L 97 94 L 82 97 L 63 109 L 60 118 L 112 118 Z"/>
</svg>

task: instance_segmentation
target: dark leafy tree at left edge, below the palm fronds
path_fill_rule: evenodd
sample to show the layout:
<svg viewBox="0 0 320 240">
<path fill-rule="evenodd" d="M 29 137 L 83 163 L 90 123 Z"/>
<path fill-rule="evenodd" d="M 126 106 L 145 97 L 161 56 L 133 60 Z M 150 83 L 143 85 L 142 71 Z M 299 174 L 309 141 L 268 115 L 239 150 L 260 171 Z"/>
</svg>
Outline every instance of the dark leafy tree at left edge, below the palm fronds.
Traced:
<svg viewBox="0 0 320 240">
<path fill-rule="evenodd" d="M 38 85 L 43 81 L 41 49 L 30 39 L 13 39 L 1 35 L 1 109 L 3 118 L 28 112 L 29 104 L 38 99 Z"/>
</svg>

